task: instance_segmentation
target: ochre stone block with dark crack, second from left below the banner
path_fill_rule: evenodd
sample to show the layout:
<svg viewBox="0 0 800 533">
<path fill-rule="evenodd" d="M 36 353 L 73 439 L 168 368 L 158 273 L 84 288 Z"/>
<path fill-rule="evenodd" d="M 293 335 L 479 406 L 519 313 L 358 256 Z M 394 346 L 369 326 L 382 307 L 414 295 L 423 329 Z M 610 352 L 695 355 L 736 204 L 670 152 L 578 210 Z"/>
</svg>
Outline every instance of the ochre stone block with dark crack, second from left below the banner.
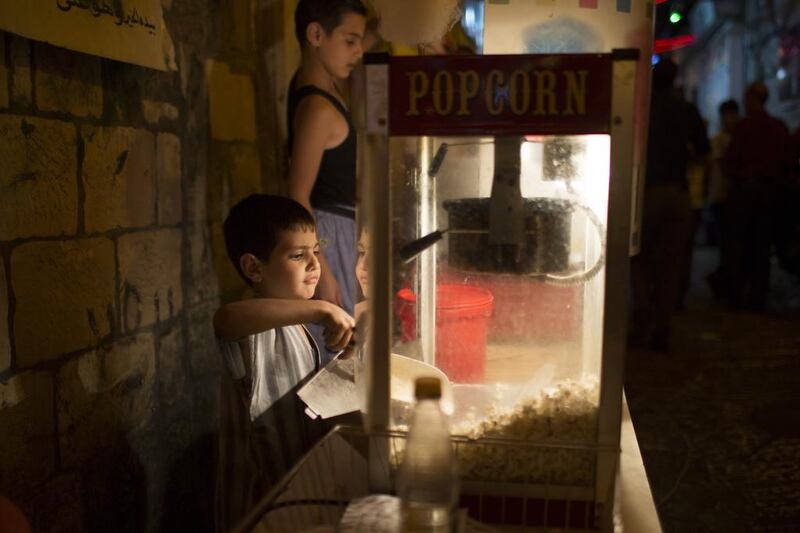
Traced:
<svg viewBox="0 0 800 533">
<path fill-rule="evenodd" d="M 156 221 L 155 139 L 146 130 L 87 127 L 83 185 L 86 231 L 139 228 Z"/>
</svg>

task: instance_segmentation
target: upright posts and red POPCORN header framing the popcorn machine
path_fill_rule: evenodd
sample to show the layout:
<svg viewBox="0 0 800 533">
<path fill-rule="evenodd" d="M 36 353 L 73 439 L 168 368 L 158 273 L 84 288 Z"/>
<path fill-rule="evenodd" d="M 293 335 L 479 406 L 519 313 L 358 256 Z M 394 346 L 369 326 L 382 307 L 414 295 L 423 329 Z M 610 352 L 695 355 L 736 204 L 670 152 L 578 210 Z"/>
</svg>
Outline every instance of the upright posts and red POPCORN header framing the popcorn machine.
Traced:
<svg viewBox="0 0 800 533">
<path fill-rule="evenodd" d="M 506 250 L 511 247 L 511 262 L 503 261 L 512 265 L 513 270 L 521 264 L 519 250 L 526 246 L 521 240 L 524 236 L 520 235 L 535 231 L 535 228 L 520 226 L 524 206 L 518 202 L 521 196 L 519 179 L 515 182 L 513 173 L 520 172 L 521 143 L 526 139 L 536 142 L 541 138 L 564 138 L 559 136 L 607 136 L 607 144 L 602 145 L 606 147 L 607 158 L 601 159 L 608 164 L 603 170 L 608 176 L 607 189 L 601 189 L 607 190 L 607 199 L 601 199 L 605 216 L 598 223 L 589 220 L 587 224 L 587 227 L 594 224 L 600 228 L 599 246 L 595 246 L 598 249 L 593 252 L 593 258 L 589 260 L 588 255 L 583 258 L 585 265 L 579 273 L 574 270 L 531 271 L 534 267 L 530 265 L 519 267 L 525 270 L 525 279 L 540 281 L 542 286 L 569 285 L 581 275 L 584 279 L 591 275 L 597 276 L 596 283 L 600 287 L 594 307 L 584 304 L 581 317 L 583 323 L 588 324 L 584 328 L 592 330 L 594 339 L 588 343 L 584 341 L 584 345 L 593 347 L 584 347 L 578 357 L 579 366 L 594 369 L 592 372 L 599 382 L 596 431 L 592 432 L 591 442 L 576 445 L 559 440 L 555 435 L 554 440 L 546 443 L 528 443 L 560 446 L 564 450 L 575 450 L 577 446 L 592 454 L 591 487 L 587 496 L 594 514 L 588 521 L 590 529 L 612 528 L 627 327 L 638 63 L 639 51 L 635 49 L 614 50 L 610 54 L 369 56 L 365 58 L 362 87 L 365 107 L 358 121 L 359 219 L 361 225 L 369 228 L 370 250 L 368 327 L 359 332 L 364 335 L 365 343 L 364 360 L 360 365 L 362 411 L 366 431 L 376 434 L 391 430 L 396 422 L 390 399 L 390 360 L 392 352 L 398 348 L 393 315 L 397 312 L 395 269 L 399 264 L 399 239 L 395 235 L 398 221 L 393 214 L 397 205 L 393 195 L 397 194 L 398 184 L 390 168 L 397 164 L 398 145 L 393 139 L 405 138 L 406 146 L 411 146 L 413 157 L 406 157 L 407 161 L 401 164 L 415 169 L 414 191 L 418 205 L 412 237 L 419 240 L 441 229 L 436 224 L 439 199 L 434 178 L 446 155 L 442 155 L 441 148 L 445 143 L 437 150 L 431 139 L 495 137 L 494 176 L 487 200 L 490 220 L 484 233 L 488 234 L 486 242 L 497 248 L 498 257 L 508 256 Z M 508 161 L 511 161 L 510 167 L 517 165 L 516 170 L 504 170 L 503 165 Z M 492 215 L 497 210 L 505 214 Z M 598 224 L 602 224 L 602 228 Z M 587 241 L 593 238 L 588 232 L 582 235 Z M 452 237 L 448 242 L 452 257 Z M 513 258 L 517 258 L 516 263 Z M 568 254 L 567 259 L 571 261 L 571 258 Z M 436 364 L 437 351 L 442 350 L 436 337 L 437 285 L 442 273 L 433 248 L 421 251 L 414 261 L 416 344 L 413 355 Z M 480 436 L 462 445 L 488 446 L 492 442 L 501 445 L 491 436 Z M 525 443 L 517 441 L 517 444 Z M 513 448 L 514 443 L 509 445 L 508 441 L 503 441 L 502 445 Z M 391 480 L 385 475 L 385 465 L 390 464 L 391 458 L 388 444 L 370 450 L 369 484 L 373 491 L 391 490 Z M 486 481 L 479 483 L 480 488 L 474 493 L 501 498 L 514 493 L 513 485 L 502 480 L 490 483 L 493 488 L 487 490 Z M 526 498 L 537 493 L 532 485 L 535 483 L 519 487 Z M 548 488 L 540 496 L 547 501 L 554 493 L 549 484 L 542 484 L 545 485 Z M 562 489 L 562 495 L 574 494 L 574 487 Z M 569 501 L 570 498 L 565 499 Z"/>
</svg>

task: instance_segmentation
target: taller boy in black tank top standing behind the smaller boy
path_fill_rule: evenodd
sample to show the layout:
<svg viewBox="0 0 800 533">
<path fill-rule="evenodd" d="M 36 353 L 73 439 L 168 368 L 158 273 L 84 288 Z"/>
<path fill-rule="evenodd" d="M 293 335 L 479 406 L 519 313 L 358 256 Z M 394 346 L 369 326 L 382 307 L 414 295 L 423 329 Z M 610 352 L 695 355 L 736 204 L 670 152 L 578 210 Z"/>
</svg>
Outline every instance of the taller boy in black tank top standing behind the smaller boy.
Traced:
<svg viewBox="0 0 800 533">
<path fill-rule="evenodd" d="M 289 196 L 314 214 L 327 242 L 317 297 L 351 314 L 356 138 L 339 87 L 361 59 L 366 15 L 360 0 L 300 0 L 295 32 L 302 62 L 288 102 Z"/>
</svg>

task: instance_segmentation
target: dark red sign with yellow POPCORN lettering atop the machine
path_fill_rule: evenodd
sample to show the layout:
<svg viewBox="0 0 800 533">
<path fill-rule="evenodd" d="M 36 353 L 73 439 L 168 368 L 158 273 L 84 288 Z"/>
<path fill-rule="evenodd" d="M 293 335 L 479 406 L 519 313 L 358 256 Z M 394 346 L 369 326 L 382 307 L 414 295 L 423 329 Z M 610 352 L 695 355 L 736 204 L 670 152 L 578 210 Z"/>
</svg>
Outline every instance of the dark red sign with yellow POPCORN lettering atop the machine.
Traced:
<svg viewBox="0 0 800 533">
<path fill-rule="evenodd" d="M 390 135 L 608 133 L 607 54 L 392 57 Z"/>
</svg>

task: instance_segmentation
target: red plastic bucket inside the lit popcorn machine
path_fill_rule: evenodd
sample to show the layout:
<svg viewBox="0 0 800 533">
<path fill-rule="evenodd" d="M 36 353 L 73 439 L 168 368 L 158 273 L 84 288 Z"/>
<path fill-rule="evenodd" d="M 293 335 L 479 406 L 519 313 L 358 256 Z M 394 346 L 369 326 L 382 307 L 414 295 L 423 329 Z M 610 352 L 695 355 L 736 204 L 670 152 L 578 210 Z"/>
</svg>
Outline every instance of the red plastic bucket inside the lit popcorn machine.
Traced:
<svg viewBox="0 0 800 533">
<path fill-rule="evenodd" d="M 403 340 L 416 337 L 416 295 L 397 293 L 397 314 Z M 486 289 L 468 285 L 436 288 L 436 366 L 454 383 L 483 381 L 486 367 L 486 331 L 494 297 Z"/>
</svg>

